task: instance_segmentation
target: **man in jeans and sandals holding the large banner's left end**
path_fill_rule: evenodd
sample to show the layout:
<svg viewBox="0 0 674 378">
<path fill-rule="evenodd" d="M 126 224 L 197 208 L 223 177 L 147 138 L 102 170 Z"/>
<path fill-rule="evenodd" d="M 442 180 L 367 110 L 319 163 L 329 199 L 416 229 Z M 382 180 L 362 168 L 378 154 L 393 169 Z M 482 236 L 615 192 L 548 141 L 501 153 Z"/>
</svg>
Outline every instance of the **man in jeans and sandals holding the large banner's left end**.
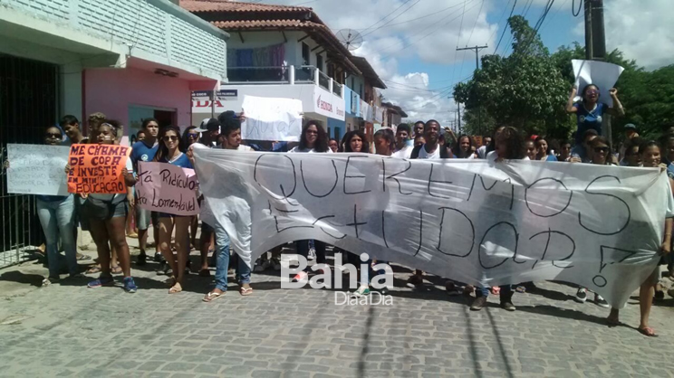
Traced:
<svg viewBox="0 0 674 378">
<path fill-rule="evenodd" d="M 218 138 L 220 146 L 224 149 L 245 151 L 240 148 L 243 146 L 241 145 L 241 121 L 234 117 L 222 117 L 220 120 L 224 121 L 222 134 Z M 193 147 L 197 147 L 197 145 Z M 198 147 L 204 148 L 203 146 Z M 191 152 L 188 151 L 188 153 L 191 155 Z M 245 233 L 249 233 L 252 228 L 250 220 L 243 226 L 247 229 Z M 230 259 L 229 235 L 219 222 L 216 222 L 214 229 L 216 234 L 216 288 L 213 288 L 204 296 L 202 299 L 204 302 L 212 302 L 225 295 L 227 291 L 227 270 L 229 269 Z M 239 294 L 244 297 L 253 294 L 253 288 L 250 287 L 250 267 L 241 258 L 237 259 L 236 277 L 239 279 Z"/>
</svg>

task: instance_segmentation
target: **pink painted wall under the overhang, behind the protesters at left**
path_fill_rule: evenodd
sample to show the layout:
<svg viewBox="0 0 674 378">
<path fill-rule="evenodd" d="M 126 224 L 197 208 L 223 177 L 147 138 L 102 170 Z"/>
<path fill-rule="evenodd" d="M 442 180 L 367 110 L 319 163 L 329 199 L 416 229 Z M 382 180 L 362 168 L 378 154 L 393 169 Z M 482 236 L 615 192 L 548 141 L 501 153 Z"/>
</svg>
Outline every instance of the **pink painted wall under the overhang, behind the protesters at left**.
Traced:
<svg viewBox="0 0 674 378">
<path fill-rule="evenodd" d="M 131 105 L 175 109 L 178 126 L 191 125 L 188 80 L 169 78 L 138 69 L 84 71 L 84 113 L 100 111 L 124 124 L 129 133 Z"/>
</svg>

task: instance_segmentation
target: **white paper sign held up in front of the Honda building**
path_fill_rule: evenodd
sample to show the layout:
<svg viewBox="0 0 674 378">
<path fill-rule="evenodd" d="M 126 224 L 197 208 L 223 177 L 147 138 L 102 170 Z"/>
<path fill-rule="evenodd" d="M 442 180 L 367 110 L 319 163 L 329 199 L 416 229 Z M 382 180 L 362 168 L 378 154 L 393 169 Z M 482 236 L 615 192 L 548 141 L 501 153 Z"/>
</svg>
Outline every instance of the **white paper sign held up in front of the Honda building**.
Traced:
<svg viewBox="0 0 674 378">
<path fill-rule="evenodd" d="M 241 138 L 297 142 L 302 134 L 302 101 L 244 96 L 241 106 L 246 122 L 241 124 Z"/>
</svg>

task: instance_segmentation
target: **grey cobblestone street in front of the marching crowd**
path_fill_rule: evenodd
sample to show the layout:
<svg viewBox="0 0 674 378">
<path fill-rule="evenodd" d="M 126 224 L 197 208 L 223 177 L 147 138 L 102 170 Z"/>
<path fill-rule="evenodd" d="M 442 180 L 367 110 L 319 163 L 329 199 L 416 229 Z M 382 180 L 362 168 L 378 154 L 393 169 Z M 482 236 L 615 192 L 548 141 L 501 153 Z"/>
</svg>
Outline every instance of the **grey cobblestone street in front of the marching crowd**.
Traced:
<svg viewBox="0 0 674 378">
<path fill-rule="evenodd" d="M 624 326 L 609 328 L 607 309 L 576 303 L 574 288 L 549 282 L 516 294 L 516 312 L 493 296 L 471 312 L 441 279 L 406 288 L 401 267 L 392 306 L 336 306 L 333 291 L 282 289 L 268 270 L 253 275 L 253 296 L 232 286 L 203 303 L 210 279 L 192 274 L 185 291 L 168 295 L 157 267 L 133 267 L 136 294 L 119 284 L 88 289 L 86 279 L 37 288 L 37 263 L 0 270 L 0 286 L 14 288 L 3 290 L 0 307 L 0 375 L 672 376 L 671 298 L 651 315 L 660 337 L 647 338 L 634 328 L 635 297 L 621 313 Z"/>
</svg>

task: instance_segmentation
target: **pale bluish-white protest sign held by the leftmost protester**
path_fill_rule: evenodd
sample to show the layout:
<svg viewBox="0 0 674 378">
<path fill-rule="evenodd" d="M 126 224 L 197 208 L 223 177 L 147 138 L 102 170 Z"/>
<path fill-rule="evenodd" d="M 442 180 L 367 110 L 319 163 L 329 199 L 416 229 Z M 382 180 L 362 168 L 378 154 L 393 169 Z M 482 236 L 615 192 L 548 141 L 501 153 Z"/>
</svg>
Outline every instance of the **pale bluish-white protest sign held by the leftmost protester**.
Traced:
<svg viewBox="0 0 674 378">
<path fill-rule="evenodd" d="M 7 193 L 68 195 L 68 146 L 7 145 Z"/>
</svg>

